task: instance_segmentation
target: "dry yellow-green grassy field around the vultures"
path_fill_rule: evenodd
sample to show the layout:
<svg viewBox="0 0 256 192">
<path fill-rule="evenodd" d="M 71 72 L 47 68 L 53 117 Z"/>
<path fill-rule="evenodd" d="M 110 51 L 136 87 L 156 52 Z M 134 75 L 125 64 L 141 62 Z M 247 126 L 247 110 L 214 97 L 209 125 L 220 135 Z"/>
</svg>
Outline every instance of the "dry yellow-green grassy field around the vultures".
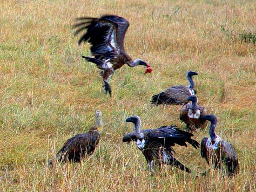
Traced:
<svg viewBox="0 0 256 192">
<path fill-rule="evenodd" d="M 255 1 L 1 1 L 0 8 L 0 191 L 255 191 L 256 32 Z M 71 25 L 76 17 L 114 13 L 130 21 L 125 47 L 154 71 L 124 66 L 104 94 L 97 68 L 81 56 Z M 219 118 L 217 134 L 237 149 L 240 173 L 223 178 L 208 169 L 199 150 L 176 146 L 191 174 L 164 166 L 150 176 L 143 154 L 122 143 L 133 131 L 179 121 L 181 106 L 151 106 L 153 94 L 195 78 L 199 104 Z M 46 163 L 72 135 L 95 124 L 104 132 L 96 152 L 77 164 Z M 194 134 L 201 141 L 208 129 Z"/>
</svg>

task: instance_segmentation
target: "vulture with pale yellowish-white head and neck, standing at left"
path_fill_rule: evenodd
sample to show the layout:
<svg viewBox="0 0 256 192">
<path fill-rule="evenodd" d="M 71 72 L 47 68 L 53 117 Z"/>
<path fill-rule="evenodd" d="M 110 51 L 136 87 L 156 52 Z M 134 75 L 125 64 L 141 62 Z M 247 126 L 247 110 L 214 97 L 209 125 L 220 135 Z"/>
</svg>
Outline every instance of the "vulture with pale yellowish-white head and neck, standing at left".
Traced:
<svg viewBox="0 0 256 192">
<path fill-rule="evenodd" d="M 68 141 L 66 141 L 63 147 L 58 151 L 55 159 L 60 162 L 80 162 L 84 157 L 90 156 L 97 147 L 100 134 L 103 131 L 102 112 L 97 110 L 95 112 L 96 126 L 89 128 L 86 133 L 80 133 Z M 52 159 L 48 165 L 53 164 Z"/>
</svg>

